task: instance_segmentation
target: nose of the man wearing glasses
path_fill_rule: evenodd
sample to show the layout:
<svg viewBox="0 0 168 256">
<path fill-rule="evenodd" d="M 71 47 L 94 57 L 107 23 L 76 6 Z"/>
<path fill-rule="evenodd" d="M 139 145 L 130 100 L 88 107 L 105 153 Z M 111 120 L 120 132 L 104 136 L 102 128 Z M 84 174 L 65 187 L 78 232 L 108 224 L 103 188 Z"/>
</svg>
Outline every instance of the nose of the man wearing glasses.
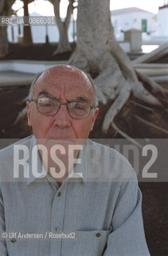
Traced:
<svg viewBox="0 0 168 256">
<path fill-rule="evenodd" d="M 61 105 L 58 113 L 54 115 L 54 126 L 60 128 L 71 126 L 71 117 L 68 114 L 67 106 Z"/>
</svg>

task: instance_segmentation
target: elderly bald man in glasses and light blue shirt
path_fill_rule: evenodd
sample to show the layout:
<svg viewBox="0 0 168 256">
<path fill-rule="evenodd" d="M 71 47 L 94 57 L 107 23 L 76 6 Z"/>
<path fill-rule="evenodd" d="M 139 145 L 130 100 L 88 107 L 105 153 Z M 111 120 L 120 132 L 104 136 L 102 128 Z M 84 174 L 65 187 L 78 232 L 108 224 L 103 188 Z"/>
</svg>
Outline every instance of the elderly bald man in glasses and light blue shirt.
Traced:
<svg viewBox="0 0 168 256">
<path fill-rule="evenodd" d="M 0 153 L 2 256 L 150 255 L 135 170 L 88 139 L 98 112 L 92 79 L 73 66 L 33 81 L 33 135 Z"/>
</svg>

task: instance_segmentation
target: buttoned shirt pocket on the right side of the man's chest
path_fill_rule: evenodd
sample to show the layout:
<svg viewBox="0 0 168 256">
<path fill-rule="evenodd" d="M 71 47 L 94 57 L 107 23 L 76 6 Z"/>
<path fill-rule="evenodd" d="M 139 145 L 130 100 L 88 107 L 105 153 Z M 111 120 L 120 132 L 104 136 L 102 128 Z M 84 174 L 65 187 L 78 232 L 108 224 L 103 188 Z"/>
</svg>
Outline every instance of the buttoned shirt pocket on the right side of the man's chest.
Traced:
<svg viewBox="0 0 168 256">
<path fill-rule="evenodd" d="M 63 239 L 64 256 L 101 256 L 111 230 L 77 230 L 74 239 Z"/>
</svg>

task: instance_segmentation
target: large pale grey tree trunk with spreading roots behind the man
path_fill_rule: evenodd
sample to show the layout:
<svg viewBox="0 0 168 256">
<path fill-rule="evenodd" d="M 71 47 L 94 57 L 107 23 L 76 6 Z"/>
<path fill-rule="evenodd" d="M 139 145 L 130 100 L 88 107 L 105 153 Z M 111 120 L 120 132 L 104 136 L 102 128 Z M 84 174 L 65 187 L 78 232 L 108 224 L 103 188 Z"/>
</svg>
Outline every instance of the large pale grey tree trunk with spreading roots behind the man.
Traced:
<svg viewBox="0 0 168 256">
<path fill-rule="evenodd" d="M 162 106 L 139 82 L 127 54 L 115 40 L 111 26 L 110 0 L 79 0 L 77 17 L 77 46 L 69 64 L 97 74 L 97 96 L 104 104 L 110 99 L 111 107 L 104 118 L 103 131 L 116 127 L 114 118 L 130 95 L 155 106 Z M 152 90 L 162 91 L 150 79 L 139 73 L 141 81 L 148 82 Z"/>
</svg>

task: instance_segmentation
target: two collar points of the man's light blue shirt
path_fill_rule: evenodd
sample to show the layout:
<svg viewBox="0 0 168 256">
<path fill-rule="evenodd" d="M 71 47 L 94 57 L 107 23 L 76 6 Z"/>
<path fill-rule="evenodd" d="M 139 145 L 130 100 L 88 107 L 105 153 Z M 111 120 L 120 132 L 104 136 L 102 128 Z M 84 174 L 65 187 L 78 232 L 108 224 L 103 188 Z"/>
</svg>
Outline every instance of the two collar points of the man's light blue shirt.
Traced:
<svg viewBox="0 0 168 256">
<path fill-rule="evenodd" d="M 76 182 L 76 178 L 80 178 L 80 181 L 86 184 L 85 151 L 86 151 L 87 141 L 84 142 L 82 150 L 80 150 L 80 153 L 78 156 L 78 159 L 80 159 L 80 163 L 75 163 L 74 170 L 72 170 L 72 172 L 68 174 L 68 177 L 64 178 L 63 182 L 68 182 L 69 179 L 71 181 Z M 28 162 L 29 178 L 27 178 L 27 185 L 34 182 L 35 180 L 39 182 L 41 181 L 41 178 L 45 178 L 45 176 L 49 179 L 49 181 L 56 182 L 54 178 L 52 178 L 49 174 L 46 173 L 45 168 L 42 166 L 41 158 L 37 150 L 33 152 L 34 159 L 37 158 L 37 164 L 32 162 L 32 150 L 34 146 L 37 146 L 37 140 L 33 135 L 32 138 L 30 139 L 30 146 L 29 146 L 29 162 Z M 41 172 L 38 172 L 38 171 L 41 171 Z"/>
</svg>

